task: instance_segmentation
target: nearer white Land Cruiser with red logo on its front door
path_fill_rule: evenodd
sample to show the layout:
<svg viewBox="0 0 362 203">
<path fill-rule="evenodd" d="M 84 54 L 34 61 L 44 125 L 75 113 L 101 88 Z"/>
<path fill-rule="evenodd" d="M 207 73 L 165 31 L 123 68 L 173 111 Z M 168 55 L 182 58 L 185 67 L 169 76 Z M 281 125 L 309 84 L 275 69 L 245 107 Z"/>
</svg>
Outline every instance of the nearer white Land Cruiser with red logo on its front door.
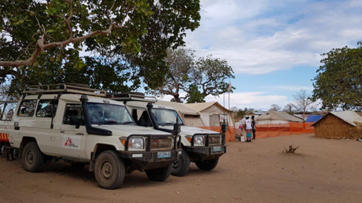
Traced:
<svg viewBox="0 0 362 203">
<path fill-rule="evenodd" d="M 119 188 L 135 169 L 166 180 L 181 154 L 178 135 L 137 126 L 123 103 L 104 96 L 68 84 L 28 86 L 21 100 L 4 105 L 1 142 L 19 151 L 29 172 L 63 159 L 74 167 L 89 164 L 105 189 Z"/>
</svg>

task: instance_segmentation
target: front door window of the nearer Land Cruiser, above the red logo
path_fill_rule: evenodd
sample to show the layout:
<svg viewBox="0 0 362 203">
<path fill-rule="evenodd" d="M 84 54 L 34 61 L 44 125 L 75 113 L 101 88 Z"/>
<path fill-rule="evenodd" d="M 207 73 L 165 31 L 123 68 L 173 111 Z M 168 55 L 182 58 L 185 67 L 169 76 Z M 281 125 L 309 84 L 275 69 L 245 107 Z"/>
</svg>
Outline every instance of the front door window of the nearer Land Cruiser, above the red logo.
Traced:
<svg viewBox="0 0 362 203">
<path fill-rule="evenodd" d="M 64 111 L 63 124 L 77 125 L 80 121 L 80 125 L 85 125 L 84 115 L 82 113 L 81 104 L 67 104 Z"/>
</svg>

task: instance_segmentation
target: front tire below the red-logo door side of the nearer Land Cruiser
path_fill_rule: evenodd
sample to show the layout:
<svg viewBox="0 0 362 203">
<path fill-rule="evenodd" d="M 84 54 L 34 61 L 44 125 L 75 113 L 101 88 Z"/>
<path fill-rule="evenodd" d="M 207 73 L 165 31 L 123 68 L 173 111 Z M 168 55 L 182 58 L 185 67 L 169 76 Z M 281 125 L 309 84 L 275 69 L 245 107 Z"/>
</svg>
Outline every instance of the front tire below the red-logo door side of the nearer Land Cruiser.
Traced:
<svg viewBox="0 0 362 203">
<path fill-rule="evenodd" d="M 94 177 L 101 188 L 118 189 L 125 174 L 125 164 L 114 151 L 104 151 L 98 155 L 94 164 Z"/>
</svg>

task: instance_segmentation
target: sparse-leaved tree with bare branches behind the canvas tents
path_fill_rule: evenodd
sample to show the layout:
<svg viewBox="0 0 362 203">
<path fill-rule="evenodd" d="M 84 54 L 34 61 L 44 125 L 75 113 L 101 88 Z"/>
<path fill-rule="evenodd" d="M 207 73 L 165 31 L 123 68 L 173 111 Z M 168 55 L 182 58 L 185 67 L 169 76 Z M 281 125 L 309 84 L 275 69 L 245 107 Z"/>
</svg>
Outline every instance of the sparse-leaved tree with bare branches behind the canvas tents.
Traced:
<svg viewBox="0 0 362 203">
<path fill-rule="evenodd" d="M 189 49 L 169 49 L 165 62 L 169 67 L 165 83 L 153 89 L 158 94 L 172 95 L 176 102 L 181 102 L 180 90 L 187 93 L 188 103 L 203 102 L 207 95 L 223 94 L 228 88 L 226 80 L 234 78 L 226 60 L 212 55 L 195 59 L 194 51 Z"/>
</svg>

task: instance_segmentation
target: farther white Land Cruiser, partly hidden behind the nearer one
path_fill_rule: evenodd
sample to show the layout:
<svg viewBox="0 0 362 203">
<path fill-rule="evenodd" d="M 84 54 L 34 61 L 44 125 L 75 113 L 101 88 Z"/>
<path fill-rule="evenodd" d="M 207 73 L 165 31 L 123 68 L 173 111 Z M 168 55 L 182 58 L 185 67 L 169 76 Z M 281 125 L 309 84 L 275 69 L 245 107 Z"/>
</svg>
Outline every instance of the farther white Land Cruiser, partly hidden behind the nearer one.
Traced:
<svg viewBox="0 0 362 203">
<path fill-rule="evenodd" d="M 212 170 L 226 153 L 225 134 L 184 125 L 172 107 L 155 104 L 156 98 L 139 92 L 109 93 L 107 97 L 123 101 L 139 126 L 171 132 L 176 122 L 181 125 L 182 154 L 173 163 L 172 175 L 183 176 L 194 162 L 201 170 Z M 153 98 L 153 99 L 152 99 Z"/>
</svg>

